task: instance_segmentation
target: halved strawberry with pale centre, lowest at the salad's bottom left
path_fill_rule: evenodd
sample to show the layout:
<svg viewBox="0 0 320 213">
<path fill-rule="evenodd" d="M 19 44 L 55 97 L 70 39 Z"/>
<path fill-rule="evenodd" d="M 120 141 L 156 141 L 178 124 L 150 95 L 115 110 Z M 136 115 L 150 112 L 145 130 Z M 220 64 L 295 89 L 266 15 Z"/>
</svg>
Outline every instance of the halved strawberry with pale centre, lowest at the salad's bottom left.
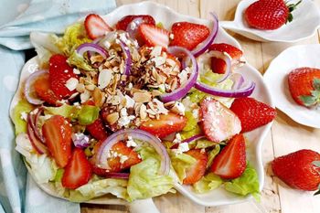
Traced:
<svg viewBox="0 0 320 213">
<path fill-rule="evenodd" d="M 76 189 L 87 184 L 91 179 L 91 175 L 91 164 L 87 160 L 86 154 L 80 148 L 75 148 L 63 173 L 62 186 Z"/>
</svg>

